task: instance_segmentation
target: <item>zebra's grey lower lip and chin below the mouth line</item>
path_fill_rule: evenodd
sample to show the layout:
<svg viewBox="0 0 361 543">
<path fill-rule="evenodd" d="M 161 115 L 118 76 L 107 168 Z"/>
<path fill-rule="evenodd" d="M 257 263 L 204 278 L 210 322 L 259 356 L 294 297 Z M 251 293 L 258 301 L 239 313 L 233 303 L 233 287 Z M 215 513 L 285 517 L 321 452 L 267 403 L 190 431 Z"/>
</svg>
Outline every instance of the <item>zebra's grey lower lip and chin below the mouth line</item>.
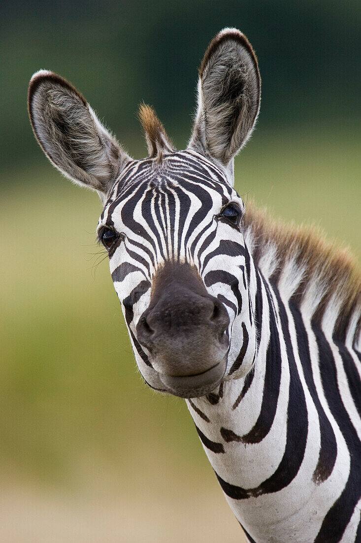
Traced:
<svg viewBox="0 0 361 543">
<path fill-rule="evenodd" d="M 195 375 L 166 375 L 159 373 L 165 392 L 181 398 L 196 398 L 214 390 L 221 383 L 227 366 L 227 357 L 210 369 Z"/>
</svg>

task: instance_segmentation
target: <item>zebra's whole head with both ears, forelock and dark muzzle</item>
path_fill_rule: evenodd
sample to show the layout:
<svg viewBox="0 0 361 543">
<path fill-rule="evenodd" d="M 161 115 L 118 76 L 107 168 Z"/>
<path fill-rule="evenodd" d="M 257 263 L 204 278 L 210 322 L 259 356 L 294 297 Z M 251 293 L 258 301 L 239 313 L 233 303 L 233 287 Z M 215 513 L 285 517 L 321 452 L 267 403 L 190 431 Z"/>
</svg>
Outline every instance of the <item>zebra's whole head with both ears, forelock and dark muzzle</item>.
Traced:
<svg viewBox="0 0 361 543">
<path fill-rule="evenodd" d="M 149 156 L 132 160 L 72 85 L 47 71 L 31 79 L 38 142 L 105 205 L 98 238 L 138 367 L 154 389 L 201 396 L 253 366 L 255 304 L 233 158 L 259 105 L 256 57 L 236 29 L 221 31 L 204 55 L 184 151 L 173 149 L 153 110 L 142 106 Z"/>
</svg>

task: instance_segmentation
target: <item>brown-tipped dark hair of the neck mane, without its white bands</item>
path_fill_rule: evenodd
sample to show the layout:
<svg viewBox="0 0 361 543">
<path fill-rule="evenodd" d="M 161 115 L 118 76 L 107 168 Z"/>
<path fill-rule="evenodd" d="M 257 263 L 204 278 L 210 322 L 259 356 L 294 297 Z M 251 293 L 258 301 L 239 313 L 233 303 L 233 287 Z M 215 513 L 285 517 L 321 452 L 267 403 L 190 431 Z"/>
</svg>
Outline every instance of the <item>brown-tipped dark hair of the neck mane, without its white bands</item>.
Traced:
<svg viewBox="0 0 361 543">
<path fill-rule="evenodd" d="M 252 231 L 255 263 L 260 261 L 262 248 L 267 247 L 269 242 L 274 243 L 278 266 L 271 280 L 277 284 L 282 264 L 291 257 L 295 258 L 296 263 L 305 269 L 301 284 L 292 296 L 296 305 L 302 301 L 308 281 L 315 281 L 320 287 L 326 285 L 323 299 L 313 317 L 318 322 L 323 317 L 327 302 L 334 294 L 339 295 L 341 308 L 334 336 L 344 338 L 353 311 L 361 305 L 361 271 L 356 258 L 349 249 L 336 242 L 328 242 L 318 228 L 286 225 L 270 218 L 265 210 L 258 210 L 252 202 L 246 207 L 243 229 Z"/>
</svg>

